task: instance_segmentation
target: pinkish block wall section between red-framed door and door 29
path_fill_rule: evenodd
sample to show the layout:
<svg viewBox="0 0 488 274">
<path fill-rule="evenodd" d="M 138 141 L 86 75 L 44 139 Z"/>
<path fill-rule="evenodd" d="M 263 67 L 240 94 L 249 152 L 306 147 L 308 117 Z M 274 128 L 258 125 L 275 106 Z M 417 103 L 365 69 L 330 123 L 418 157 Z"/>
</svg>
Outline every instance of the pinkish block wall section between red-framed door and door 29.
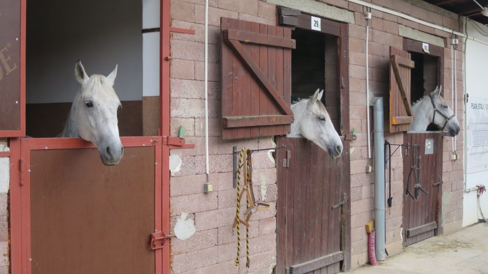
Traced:
<svg viewBox="0 0 488 274">
<path fill-rule="evenodd" d="M 172 26 L 195 29 L 195 35 L 173 33 L 171 40 L 171 134 L 186 128 L 195 149 L 172 150 L 181 168 L 170 180 L 171 229 L 182 213 L 195 222 L 196 232 L 171 241 L 173 273 L 236 273 L 237 234 L 232 231 L 236 189 L 232 186 L 232 147 L 268 148 L 271 138 L 223 141 L 220 121 L 220 17 L 275 24 L 275 5 L 262 1 L 209 1 L 208 107 L 209 180 L 214 192 L 203 193 L 204 160 L 204 1 L 171 1 Z M 269 273 L 276 262 L 275 164 L 266 152 L 253 153 L 256 199 L 271 204 L 269 211 L 253 214 L 250 228 L 250 273 Z M 245 206 L 243 207 L 245 208 Z M 241 212 L 243 210 L 241 209 Z M 242 226 L 241 226 L 242 227 Z M 245 235 L 241 228 L 241 235 Z M 240 272 L 246 271 L 246 241 L 241 237 Z"/>
</svg>

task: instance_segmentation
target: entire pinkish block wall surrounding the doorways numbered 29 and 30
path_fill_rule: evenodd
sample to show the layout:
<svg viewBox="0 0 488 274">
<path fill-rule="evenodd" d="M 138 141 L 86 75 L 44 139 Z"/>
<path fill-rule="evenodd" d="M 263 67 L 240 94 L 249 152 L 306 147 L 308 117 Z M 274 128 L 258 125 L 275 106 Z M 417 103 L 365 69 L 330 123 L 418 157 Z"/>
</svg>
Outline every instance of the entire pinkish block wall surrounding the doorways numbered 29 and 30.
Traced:
<svg viewBox="0 0 488 274">
<path fill-rule="evenodd" d="M 373 173 L 364 172 L 367 159 L 366 107 L 365 107 L 365 25 L 363 7 L 345 0 L 323 0 L 329 5 L 354 12 L 355 24 L 350 25 L 350 124 L 357 129 L 357 140 L 351 143 L 351 227 L 352 227 L 352 267 L 367 263 L 367 235 L 364 224 L 373 218 Z M 371 2 L 371 1 L 370 1 Z M 459 29 L 457 17 L 447 11 L 421 1 L 373 0 L 372 3 L 392 10 L 412 15 L 422 20 Z M 209 135 L 210 135 L 210 181 L 214 192 L 204 194 L 204 134 L 203 134 L 203 42 L 204 42 L 204 1 L 173 0 L 171 2 L 172 25 L 195 29 L 195 35 L 172 33 L 171 54 L 171 134 L 176 135 L 180 125 L 187 129 L 187 140 L 196 144 L 192 150 L 173 150 L 181 157 L 181 169 L 171 178 L 171 218 L 172 229 L 181 213 L 189 214 L 195 222 L 196 233 L 185 241 L 172 240 L 173 273 L 235 272 L 236 235 L 231 224 L 235 212 L 235 189 L 232 188 L 232 146 L 241 148 L 265 148 L 270 146 L 270 138 L 245 141 L 223 141 L 220 124 L 220 63 L 219 46 L 220 17 L 276 24 L 274 5 L 265 1 L 209 1 Z M 317 3 L 317 5 L 320 5 Z M 403 48 L 403 38 L 398 35 L 398 25 L 402 24 L 442 38 L 449 33 L 397 16 L 372 10 L 370 22 L 370 90 L 373 94 L 385 94 L 388 89 L 389 46 Z M 462 49 L 462 45 L 459 49 Z M 457 52 L 457 118 L 463 127 L 463 80 L 462 52 Z M 450 105 L 450 48 L 445 49 L 444 94 Z M 463 155 L 463 131 L 457 138 L 457 154 Z M 391 143 L 402 143 L 403 134 L 387 134 Z M 451 138 L 444 138 L 443 157 L 443 202 L 442 226 L 444 233 L 461 228 L 463 159 L 450 161 Z M 276 169 L 266 153 L 254 155 L 256 195 L 261 197 L 261 189 L 266 189 L 265 201 L 272 204 L 272 210 L 253 215 L 251 224 L 250 272 L 266 273 L 276 261 L 275 204 L 277 199 Z M 393 207 L 387 210 L 387 249 L 390 255 L 403 250 L 400 236 L 402 226 L 403 200 L 403 159 L 399 152 L 392 158 Z M 240 272 L 245 270 L 241 252 Z"/>
</svg>

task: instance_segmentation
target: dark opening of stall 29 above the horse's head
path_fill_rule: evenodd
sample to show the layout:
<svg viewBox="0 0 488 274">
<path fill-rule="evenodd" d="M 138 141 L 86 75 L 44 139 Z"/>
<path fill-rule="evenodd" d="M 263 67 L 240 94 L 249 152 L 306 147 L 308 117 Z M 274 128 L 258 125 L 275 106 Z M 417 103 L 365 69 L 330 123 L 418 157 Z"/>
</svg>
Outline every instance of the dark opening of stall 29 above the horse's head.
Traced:
<svg viewBox="0 0 488 274">
<path fill-rule="evenodd" d="M 301 29 L 295 29 L 291 38 L 296 40 L 296 49 L 291 53 L 292 104 L 312 96 L 317 89 L 323 89 L 321 101 L 335 130 L 341 134 L 338 38 Z"/>
</svg>

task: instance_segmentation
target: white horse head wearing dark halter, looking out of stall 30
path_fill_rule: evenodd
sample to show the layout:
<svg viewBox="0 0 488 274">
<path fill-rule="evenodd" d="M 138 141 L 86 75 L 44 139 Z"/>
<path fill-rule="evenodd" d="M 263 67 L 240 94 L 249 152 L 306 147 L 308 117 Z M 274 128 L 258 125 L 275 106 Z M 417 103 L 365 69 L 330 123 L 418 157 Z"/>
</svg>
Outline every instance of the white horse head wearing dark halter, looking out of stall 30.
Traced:
<svg viewBox="0 0 488 274">
<path fill-rule="evenodd" d="M 451 136 L 459 133 L 459 122 L 442 98 L 441 90 L 442 86 L 436 87 L 429 95 L 413 103 L 414 118 L 410 130 L 425 131 L 430 123 L 434 123 L 439 129 L 447 130 Z"/>
</svg>

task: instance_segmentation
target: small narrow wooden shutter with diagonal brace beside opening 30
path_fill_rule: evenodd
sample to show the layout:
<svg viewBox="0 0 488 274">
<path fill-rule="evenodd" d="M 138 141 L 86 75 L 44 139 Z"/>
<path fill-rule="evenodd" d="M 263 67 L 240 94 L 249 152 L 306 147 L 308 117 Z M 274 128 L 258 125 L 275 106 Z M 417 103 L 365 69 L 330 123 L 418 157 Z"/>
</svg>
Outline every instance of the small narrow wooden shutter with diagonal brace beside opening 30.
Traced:
<svg viewBox="0 0 488 274">
<path fill-rule="evenodd" d="M 410 53 L 390 47 L 389 132 L 410 130 L 413 121 L 410 106 Z"/>
</svg>

